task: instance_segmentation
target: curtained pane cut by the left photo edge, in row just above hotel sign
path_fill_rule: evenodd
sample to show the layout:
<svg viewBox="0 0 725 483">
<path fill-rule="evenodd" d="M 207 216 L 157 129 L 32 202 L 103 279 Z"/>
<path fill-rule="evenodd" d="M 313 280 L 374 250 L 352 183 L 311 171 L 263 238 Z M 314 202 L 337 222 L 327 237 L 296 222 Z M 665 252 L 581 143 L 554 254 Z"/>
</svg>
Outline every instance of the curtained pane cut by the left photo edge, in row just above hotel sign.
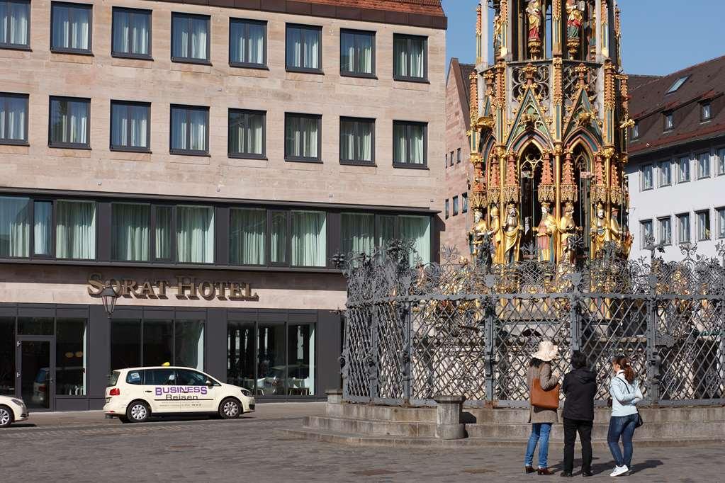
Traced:
<svg viewBox="0 0 725 483">
<path fill-rule="evenodd" d="M 0 196 L 0 256 L 30 255 L 30 198 Z"/>
</svg>

